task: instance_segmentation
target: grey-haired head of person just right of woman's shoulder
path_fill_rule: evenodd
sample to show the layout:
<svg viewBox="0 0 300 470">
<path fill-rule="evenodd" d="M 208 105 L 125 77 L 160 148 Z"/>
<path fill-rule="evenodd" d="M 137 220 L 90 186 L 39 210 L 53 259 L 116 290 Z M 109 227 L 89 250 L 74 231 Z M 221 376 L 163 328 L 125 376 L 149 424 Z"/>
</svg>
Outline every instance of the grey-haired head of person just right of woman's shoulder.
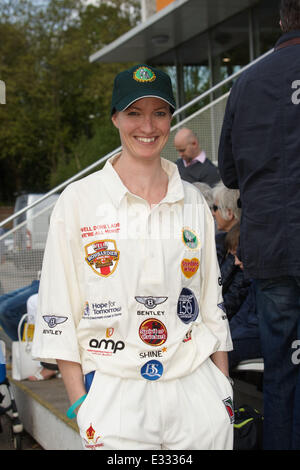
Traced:
<svg viewBox="0 0 300 470">
<path fill-rule="evenodd" d="M 213 188 L 212 194 L 213 216 L 217 229 L 228 232 L 241 219 L 240 192 L 237 189 L 228 189 L 220 182 Z"/>
</svg>

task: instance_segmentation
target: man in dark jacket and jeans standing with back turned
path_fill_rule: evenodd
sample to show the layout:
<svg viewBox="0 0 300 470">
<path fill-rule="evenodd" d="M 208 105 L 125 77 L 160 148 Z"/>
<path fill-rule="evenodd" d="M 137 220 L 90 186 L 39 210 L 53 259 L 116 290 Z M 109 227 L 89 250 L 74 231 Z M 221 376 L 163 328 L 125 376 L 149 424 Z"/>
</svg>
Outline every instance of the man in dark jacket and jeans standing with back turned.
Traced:
<svg viewBox="0 0 300 470">
<path fill-rule="evenodd" d="M 282 0 L 274 51 L 234 84 L 219 147 L 241 194 L 241 257 L 255 280 L 264 359 L 264 448 L 300 449 L 300 0 Z"/>
</svg>

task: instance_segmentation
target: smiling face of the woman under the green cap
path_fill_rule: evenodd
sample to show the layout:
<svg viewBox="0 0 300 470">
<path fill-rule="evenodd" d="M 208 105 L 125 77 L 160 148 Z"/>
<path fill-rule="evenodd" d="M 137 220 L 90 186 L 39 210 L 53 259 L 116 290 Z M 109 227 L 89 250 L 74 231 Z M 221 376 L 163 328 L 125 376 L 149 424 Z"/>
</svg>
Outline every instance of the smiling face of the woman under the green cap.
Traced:
<svg viewBox="0 0 300 470">
<path fill-rule="evenodd" d="M 169 138 L 171 120 L 169 104 L 154 97 L 141 98 L 112 116 L 123 153 L 147 159 L 160 156 Z"/>
</svg>

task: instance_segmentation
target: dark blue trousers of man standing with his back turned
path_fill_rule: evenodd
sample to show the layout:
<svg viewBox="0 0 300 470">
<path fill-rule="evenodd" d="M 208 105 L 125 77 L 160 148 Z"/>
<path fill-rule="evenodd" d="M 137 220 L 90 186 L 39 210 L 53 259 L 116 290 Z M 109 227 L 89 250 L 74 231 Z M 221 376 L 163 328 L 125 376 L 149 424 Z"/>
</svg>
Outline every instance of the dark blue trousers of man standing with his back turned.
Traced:
<svg viewBox="0 0 300 470">
<path fill-rule="evenodd" d="M 264 358 L 264 449 L 299 450 L 300 277 L 255 285 Z"/>
</svg>

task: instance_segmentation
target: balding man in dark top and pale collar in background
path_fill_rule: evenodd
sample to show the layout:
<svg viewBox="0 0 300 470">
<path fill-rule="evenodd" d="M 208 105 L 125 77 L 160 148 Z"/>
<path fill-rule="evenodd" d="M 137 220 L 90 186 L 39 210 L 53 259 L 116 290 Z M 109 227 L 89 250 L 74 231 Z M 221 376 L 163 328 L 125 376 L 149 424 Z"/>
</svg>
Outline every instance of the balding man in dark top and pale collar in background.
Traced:
<svg viewBox="0 0 300 470">
<path fill-rule="evenodd" d="M 175 135 L 174 145 L 180 158 L 176 164 L 181 178 L 189 183 L 200 181 L 213 187 L 220 181 L 218 168 L 206 157 L 199 140 L 191 129 L 180 129 Z"/>
</svg>

